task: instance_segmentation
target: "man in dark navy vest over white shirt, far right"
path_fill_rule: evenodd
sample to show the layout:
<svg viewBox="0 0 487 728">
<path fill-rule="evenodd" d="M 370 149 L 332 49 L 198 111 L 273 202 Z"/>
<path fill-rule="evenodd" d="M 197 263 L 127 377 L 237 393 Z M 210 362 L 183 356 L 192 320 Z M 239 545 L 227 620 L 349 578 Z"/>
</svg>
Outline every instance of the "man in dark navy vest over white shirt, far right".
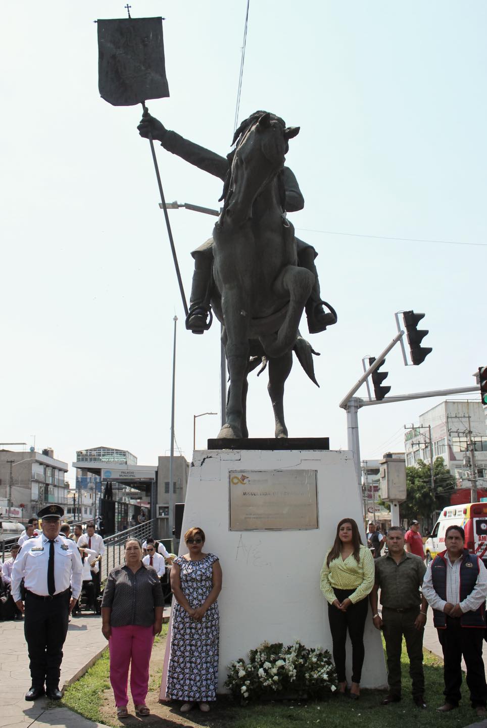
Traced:
<svg viewBox="0 0 487 728">
<path fill-rule="evenodd" d="M 486 629 L 487 571 L 482 560 L 464 547 L 462 526 L 448 526 L 446 551 L 429 564 L 423 596 L 433 610 L 433 623 L 443 649 L 445 704 L 441 713 L 458 708 L 462 685 L 462 654 L 467 665 L 467 685 L 472 707 L 486 716 L 487 685 L 482 659 Z"/>
</svg>

